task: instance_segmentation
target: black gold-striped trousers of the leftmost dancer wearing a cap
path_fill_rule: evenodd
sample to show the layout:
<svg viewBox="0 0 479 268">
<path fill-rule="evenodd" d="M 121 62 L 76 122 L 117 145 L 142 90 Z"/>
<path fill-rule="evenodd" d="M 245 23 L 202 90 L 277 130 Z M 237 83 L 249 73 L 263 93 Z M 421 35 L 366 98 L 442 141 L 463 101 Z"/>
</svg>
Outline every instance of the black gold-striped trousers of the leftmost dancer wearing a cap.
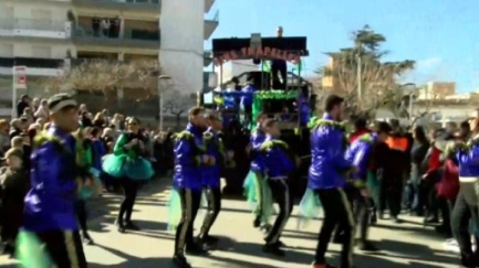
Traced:
<svg viewBox="0 0 479 268">
<path fill-rule="evenodd" d="M 52 261 L 58 268 L 86 268 L 86 258 L 77 231 L 49 231 L 37 233 L 45 244 Z"/>
</svg>

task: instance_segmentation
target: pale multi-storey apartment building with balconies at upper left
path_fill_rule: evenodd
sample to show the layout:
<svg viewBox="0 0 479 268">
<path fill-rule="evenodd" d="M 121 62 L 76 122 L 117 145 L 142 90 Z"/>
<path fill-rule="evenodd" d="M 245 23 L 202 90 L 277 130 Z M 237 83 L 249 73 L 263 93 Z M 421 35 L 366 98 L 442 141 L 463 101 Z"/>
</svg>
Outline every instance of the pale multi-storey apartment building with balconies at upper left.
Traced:
<svg viewBox="0 0 479 268">
<path fill-rule="evenodd" d="M 11 96 L 12 66 L 27 66 L 32 95 L 42 76 L 61 75 L 75 58 L 158 60 L 175 89 L 204 86 L 204 51 L 218 26 L 215 0 L 2 0 L 0 98 Z M 205 19 L 207 18 L 207 19 Z M 21 93 L 19 93 L 21 94 Z"/>
</svg>

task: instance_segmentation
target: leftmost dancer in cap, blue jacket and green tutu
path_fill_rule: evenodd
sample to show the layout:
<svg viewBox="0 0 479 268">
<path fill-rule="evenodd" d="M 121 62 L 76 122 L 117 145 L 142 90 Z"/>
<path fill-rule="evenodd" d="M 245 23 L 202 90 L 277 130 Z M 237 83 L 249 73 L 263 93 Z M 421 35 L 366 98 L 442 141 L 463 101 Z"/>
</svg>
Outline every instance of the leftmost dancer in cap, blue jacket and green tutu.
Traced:
<svg viewBox="0 0 479 268">
<path fill-rule="evenodd" d="M 75 202 L 77 190 L 92 181 L 79 180 L 75 172 L 75 139 L 71 132 L 79 128 L 77 105 L 72 97 L 59 94 L 49 99 L 49 110 L 52 124 L 45 135 L 35 138 L 32 152 L 31 190 L 25 196 L 18 257 L 23 267 L 51 267 L 38 255 L 37 250 L 43 248 L 53 266 L 83 268 L 87 264 Z M 32 247 L 35 238 L 39 246 Z"/>
</svg>

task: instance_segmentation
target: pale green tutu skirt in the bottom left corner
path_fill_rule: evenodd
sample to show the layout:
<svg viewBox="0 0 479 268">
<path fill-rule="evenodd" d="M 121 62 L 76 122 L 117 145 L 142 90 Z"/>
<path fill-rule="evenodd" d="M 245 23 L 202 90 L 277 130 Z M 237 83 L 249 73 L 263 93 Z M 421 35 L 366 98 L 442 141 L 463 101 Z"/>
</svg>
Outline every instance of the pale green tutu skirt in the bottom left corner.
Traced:
<svg viewBox="0 0 479 268">
<path fill-rule="evenodd" d="M 43 244 L 35 234 L 20 231 L 17 236 L 15 258 L 19 267 L 23 268 L 51 268 L 53 262 Z"/>
</svg>

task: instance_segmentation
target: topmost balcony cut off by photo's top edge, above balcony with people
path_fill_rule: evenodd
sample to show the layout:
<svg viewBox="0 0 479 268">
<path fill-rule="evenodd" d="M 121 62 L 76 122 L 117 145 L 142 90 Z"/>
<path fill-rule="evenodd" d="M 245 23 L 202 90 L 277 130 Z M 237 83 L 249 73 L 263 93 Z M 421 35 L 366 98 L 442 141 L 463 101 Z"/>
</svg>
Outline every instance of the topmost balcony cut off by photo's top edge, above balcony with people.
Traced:
<svg viewBox="0 0 479 268">
<path fill-rule="evenodd" d="M 160 0 L 72 0 L 74 7 L 118 11 L 159 13 Z"/>
</svg>

